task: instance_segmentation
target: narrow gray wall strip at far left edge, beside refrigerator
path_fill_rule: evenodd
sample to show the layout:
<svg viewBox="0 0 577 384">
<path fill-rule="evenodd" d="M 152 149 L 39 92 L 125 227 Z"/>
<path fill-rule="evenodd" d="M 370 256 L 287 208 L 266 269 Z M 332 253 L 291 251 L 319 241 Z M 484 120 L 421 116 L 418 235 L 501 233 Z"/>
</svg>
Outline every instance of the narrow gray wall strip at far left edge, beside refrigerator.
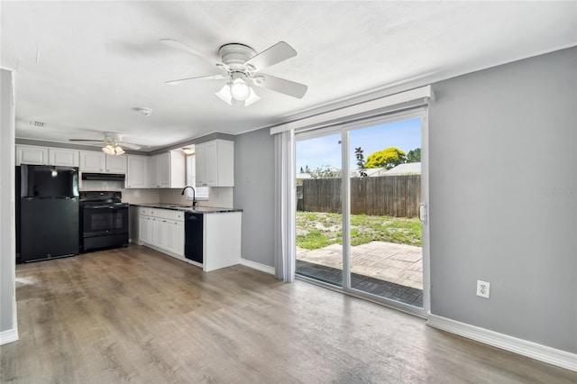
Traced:
<svg viewBox="0 0 577 384">
<path fill-rule="evenodd" d="M 11 71 L 0 69 L 0 332 L 14 325 L 14 108 Z"/>
</svg>

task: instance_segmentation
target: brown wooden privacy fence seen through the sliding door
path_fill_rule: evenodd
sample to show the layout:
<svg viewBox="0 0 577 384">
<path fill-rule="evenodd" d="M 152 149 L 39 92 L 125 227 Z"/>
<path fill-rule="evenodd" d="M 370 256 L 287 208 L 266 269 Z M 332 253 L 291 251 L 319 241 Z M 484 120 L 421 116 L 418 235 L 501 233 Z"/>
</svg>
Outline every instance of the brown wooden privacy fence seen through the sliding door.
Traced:
<svg viewBox="0 0 577 384">
<path fill-rule="evenodd" d="M 297 186 L 297 209 L 340 214 L 341 178 L 304 179 Z M 351 178 L 353 215 L 415 217 L 421 199 L 421 175 Z"/>
</svg>

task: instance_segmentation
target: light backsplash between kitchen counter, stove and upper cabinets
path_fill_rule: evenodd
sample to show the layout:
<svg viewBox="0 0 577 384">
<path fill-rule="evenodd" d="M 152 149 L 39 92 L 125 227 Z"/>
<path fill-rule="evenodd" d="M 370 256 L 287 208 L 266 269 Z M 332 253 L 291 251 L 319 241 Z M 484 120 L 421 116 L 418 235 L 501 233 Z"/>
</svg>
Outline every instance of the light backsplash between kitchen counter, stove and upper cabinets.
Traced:
<svg viewBox="0 0 577 384">
<path fill-rule="evenodd" d="M 180 195 L 181 188 L 163 189 L 127 189 L 122 181 L 100 181 L 82 180 L 80 187 L 82 191 L 121 191 L 123 202 L 130 204 L 182 204 L 192 205 L 186 196 Z M 210 198 L 208 200 L 198 200 L 199 206 L 217 206 L 223 208 L 233 207 L 233 187 L 213 187 L 210 188 Z"/>
</svg>

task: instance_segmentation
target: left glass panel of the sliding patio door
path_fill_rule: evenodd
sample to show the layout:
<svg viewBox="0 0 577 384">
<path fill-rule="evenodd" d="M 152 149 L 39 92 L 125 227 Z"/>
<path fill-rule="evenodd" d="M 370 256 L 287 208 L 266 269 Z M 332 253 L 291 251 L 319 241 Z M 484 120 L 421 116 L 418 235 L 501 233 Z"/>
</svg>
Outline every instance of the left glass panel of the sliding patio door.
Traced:
<svg viewBox="0 0 577 384">
<path fill-rule="evenodd" d="M 301 136 L 296 159 L 296 271 L 342 288 L 341 133 Z"/>
</svg>

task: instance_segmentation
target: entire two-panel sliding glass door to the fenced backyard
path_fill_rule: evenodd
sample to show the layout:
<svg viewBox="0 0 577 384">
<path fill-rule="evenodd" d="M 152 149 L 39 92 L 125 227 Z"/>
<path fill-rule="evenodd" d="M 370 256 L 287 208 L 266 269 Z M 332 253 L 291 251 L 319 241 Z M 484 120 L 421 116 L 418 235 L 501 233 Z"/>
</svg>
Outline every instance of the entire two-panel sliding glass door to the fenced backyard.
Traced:
<svg viewBox="0 0 577 384">
<path fill-rule="evenodd" d="M 299 277 L 424 310 L 423 133 L 412 113 L 297 135 Z"/>
</svg>

